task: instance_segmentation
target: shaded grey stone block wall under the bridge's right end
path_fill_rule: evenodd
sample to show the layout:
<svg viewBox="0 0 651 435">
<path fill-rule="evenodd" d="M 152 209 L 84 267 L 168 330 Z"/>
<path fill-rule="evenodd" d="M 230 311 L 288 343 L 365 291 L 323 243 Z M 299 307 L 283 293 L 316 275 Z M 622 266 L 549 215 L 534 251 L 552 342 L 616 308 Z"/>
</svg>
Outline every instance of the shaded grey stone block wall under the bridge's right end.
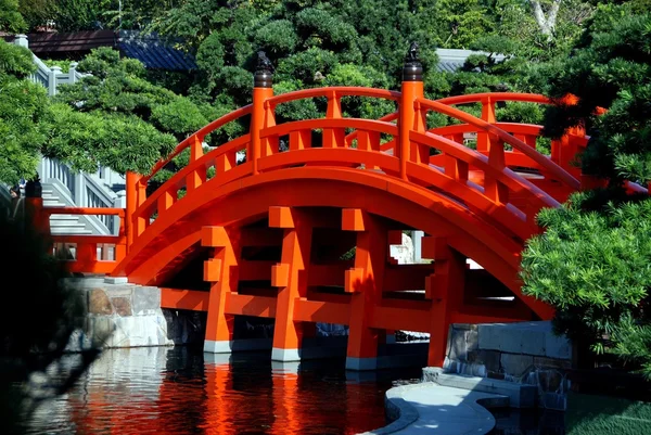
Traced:
<svg viewBox="0 0 651 435">
<path fill-rule="evenodd" d="M 454 324 L 448 335 L 446 372 L 538 386 L 539 405 L 566 408 L 571 343 L 551 322 Z"/>
</svg>

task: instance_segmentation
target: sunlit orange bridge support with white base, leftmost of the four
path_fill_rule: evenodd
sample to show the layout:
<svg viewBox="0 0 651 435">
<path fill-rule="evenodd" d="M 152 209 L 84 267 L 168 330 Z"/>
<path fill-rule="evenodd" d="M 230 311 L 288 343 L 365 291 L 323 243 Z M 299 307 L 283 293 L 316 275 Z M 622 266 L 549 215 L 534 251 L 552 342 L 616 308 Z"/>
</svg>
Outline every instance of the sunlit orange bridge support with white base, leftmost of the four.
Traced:
<svg viewBox="0 0 651 435">
<path fill-rule="evenodd" d="M 203 227 L 202 246 L 215 248 L 214 258 L 204 263 L 204 280 L 210 282 L 204 351 L 228 354 L 232 349 L 234 318 L 226 314 L 227 295 L 238 291 L 240 250 L 224 227 Z"/>
</svg>

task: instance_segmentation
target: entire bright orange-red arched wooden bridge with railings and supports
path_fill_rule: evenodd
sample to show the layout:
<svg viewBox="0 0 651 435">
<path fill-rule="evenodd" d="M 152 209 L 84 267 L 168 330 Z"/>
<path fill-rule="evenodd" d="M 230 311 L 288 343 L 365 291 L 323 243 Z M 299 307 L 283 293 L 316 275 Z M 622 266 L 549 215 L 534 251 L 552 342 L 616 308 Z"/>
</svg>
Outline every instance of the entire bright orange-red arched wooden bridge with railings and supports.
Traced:
<svg viewBox="0 0 651 435">
<path fill-rule="evenodd" d="M 406 64 L 400 92 L 330 87 L 280 95 L 260 69 L 251 105 L 182 141 L 149 175 L 127 174 L 126 210 L 44 209 L 118 215 L 119 235 L 54 242 L 77 245 L 74 271 L 157 285 L 163 307 L 207 311 L 206 351 L 237 348 L 233 317 L 244 315 L 275 319 L 275 360 L 298 359 L 302 338 L 327 322 L 349 327 L 349 369 L 374 368 L 379 342 L 395 330 L 430 333 L 429 364 L 442 366 L 452 322 L 551 318 L 549 306 L 521 293 L 520 253 L 540 231 L 538 210 L 588 182 L 572 165 L 588 138 L 574 129 L 544 155 L 540 126 L 501 123 L 495 107 L 547 98 L 432 101 L 419 68 Z M 350 97 L 387 100 L 395 112 L 346 117 Z M 277 123 L 279 106 L 308 99 L 327 104 L 324 117 Z M 471 103 L 481 104 L 481 117 L 459 108 Z M 431 113 L 455 124 L 429 129 Z M 208 133 L 245 117 L 247 133 L 204 152 Z M 186 150 L 190 163 L 148 195 L 148 181 Z M 422 256 L 432 261 L 393 260 L 390 245 L 404 230 L 424 231 Z M 115 258 L 98 258 L 105 244 L 115 245 Z M 483 269 L 470 269 L 469 258 Z M 188 271 L 205 289 L 173 285 Z"/>
</svg>

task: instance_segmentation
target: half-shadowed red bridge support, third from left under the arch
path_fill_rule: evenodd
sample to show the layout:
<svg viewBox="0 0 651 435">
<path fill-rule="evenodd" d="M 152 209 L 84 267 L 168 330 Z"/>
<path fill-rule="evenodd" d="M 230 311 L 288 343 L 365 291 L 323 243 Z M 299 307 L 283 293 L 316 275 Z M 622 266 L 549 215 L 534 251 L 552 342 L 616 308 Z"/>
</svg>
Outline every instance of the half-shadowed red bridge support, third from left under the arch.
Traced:
<svg viewBox="0 0 651 435">
<path fill-rule="evenodd" d="M 346 271 L 345 279 L 345 291 L 352 293 L 346 369 L 374 370 L 380 331 L 370 324 L 373 308 L 382 298 L 388 228 L 361 209 L 348 208 L 342 213 L 342 229 L 357 231 L 355 267 Z"/>
</svg>

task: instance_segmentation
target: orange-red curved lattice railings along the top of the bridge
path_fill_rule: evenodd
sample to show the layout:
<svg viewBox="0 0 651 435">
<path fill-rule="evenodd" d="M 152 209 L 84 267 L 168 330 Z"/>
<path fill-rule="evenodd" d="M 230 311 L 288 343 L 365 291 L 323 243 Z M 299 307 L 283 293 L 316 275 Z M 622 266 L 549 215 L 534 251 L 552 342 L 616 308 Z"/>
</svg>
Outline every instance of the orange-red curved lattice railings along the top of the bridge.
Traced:
<svg viewBox="0 0 651 435">
<path fill-rule="evenodd" d="M 344 117 L 342 99 L 345 97 L 394 101 L 398 112 L 380 119 Z M 276 124 L 276 110 L 280 104 L 315 98 L 328 101 L 323 118 Z M 253 104 L 225 115 L 190 136 L 148 176 L 129 175 L 127 188 L 131 187 L 136 195 L 131 195 L 127 204 L 127 208 L 130 205 L 127 219 L 132 229 L 128 243 L 133 243 L 145 231 L 156 214 L 161 216 L 176 202 L 183 201 L 179 191 L 186 190 L 186 195 L 191 195 L 207 182 L 210 168 L 215 174 L 210 183 L 217 187 L 259 172 L 304 165 L 381 171 L 424 188 L 445 189 L 446 194 L 470 208 L 490 214 L 497 221 L 510 222 L 508 226 L 514 235 L 524 240 L 536 231 L 534 218 L 537 212 L 541 207 L 558 206 L 558 202 L 509 166 L 538 170 L 541 176 L 570 190 L 578 190 L 579 181 L 563 167 L 565 165 L 561 165 L 569 158 L 554 156 L 567 156 L 578 140 L 585 143 L 585 139 L 574 135 L 574 138 L 552 145 L 551 157 L 545 156 L 535 150 L 541 127 L 496 123 L 496 101 L 549 103 L 541 95 L 516 93 L 462 95 L 439 101 L 418 97 L 406 102 L 400 92 L 354 87 L 308 89 L 280 95 L 272 95 L 269 89 L 261 98 L 254 93 Z M 473 102 L 484 105 L 482 118 L 454 107 Z M 413 110 L 412 123 L 395 123 L 406 105 Z M 427 130 L 425 118 L 432 111 L 461 124 Z M 203 143 L 208 133 L 248 115 L 252 116 L 248 133 L 204 154 Z M 312 146 L 314 131 L 321 133 L 318 148 Z M 468 132 L 476 133 L 476 151 L 462 144 L 462 137 Z M 281 146 L 281 143 L 289 146 Z M 512 151 L 505 151 L 505 145 Z M 148 197 L 148 181 L 187 149 L 190 150 L 190 163 Z M 239 163 L 238 155 L 242 153 L 246 157 Z M 472 181 L 469 170 L 483 172 L 483 181 Z M 510 201 L 515 196 L 520 197 L 519 205 Z"/>
</svg>

